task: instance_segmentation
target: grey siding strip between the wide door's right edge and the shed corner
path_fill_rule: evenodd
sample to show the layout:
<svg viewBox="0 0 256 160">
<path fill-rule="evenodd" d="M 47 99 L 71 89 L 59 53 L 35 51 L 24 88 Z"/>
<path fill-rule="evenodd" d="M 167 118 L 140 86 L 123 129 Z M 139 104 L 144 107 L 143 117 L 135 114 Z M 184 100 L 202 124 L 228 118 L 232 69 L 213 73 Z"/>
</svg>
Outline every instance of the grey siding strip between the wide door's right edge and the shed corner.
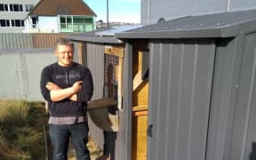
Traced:
<svg viewBox="0 0 256 160">
<path fill-rule="evenodd" d="M 244 36 L 216 45 L 206 160 L 228 160 Z"/>
</svg>

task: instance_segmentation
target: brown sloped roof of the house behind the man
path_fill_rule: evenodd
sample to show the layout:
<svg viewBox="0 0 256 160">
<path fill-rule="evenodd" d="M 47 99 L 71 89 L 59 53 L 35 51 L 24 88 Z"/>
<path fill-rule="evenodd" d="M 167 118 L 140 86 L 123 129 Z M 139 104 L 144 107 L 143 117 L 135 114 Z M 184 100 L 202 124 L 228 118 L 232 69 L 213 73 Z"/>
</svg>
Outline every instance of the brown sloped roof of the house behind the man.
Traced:
<svg viewBox="0 0 256 160">
<path fill-rule="evenodd" d="M 90 15 L 97 16 L 83 0 L 41 0 L 28 15 Z"/>
</svg>

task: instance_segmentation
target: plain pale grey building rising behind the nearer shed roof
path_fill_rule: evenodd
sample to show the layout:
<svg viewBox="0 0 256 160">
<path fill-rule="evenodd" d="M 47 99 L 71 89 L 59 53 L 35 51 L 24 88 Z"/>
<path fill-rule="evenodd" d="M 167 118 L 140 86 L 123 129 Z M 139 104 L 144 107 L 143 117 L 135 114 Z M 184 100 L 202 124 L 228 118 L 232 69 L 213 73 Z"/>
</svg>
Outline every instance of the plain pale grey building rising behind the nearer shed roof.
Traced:
<svg viewBox="0 0 256 160">
<path fill-rule="evenodd" d="M 141 0 L 141 24 L 173 20 L 185 16 L 256 9 L 255 0 Z"/>
</svg>

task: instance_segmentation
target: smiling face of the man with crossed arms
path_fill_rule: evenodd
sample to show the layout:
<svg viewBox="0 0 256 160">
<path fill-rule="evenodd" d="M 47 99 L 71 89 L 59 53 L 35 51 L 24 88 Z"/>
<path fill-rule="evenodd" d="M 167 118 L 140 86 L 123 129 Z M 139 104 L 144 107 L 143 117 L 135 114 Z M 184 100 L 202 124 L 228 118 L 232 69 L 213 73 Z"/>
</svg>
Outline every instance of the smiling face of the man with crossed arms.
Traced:
<svg viewBox="0 0 256 160">
<path fill-rule="evenodd" d="M 68 67 L 73 62 L 74 52 L 70 45 L 58 45 L 54 51 L 60 66 Z"/>
</svg>

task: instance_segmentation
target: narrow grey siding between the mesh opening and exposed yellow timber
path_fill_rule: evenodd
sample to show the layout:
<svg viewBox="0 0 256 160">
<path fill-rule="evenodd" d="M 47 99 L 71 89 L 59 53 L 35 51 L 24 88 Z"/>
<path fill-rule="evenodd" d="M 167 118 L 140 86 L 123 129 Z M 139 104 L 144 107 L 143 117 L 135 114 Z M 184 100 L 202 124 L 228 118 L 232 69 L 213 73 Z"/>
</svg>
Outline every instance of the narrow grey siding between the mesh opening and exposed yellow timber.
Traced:
<svg viewBox="0 0 256 160">
<path fill-rule="evenodd" d="M 123 108 L 119 111 L 116 139 L 116 160 L 132 158 L 132 44 L 125 44 L 123 71 Z"/>
</svg>

